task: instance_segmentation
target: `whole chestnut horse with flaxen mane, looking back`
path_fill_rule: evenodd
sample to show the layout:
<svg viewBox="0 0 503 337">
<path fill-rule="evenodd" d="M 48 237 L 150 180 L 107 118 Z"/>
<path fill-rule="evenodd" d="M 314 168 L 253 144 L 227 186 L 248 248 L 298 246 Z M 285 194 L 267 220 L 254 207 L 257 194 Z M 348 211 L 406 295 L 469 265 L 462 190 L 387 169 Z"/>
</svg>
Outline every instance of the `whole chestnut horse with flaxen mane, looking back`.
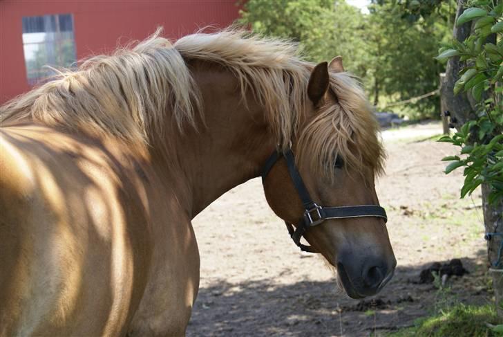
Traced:
<svg viewBox="0 0 503 337">
<path fill-rule="evenodd" d="M 191 219 L 261 172 L 272 210 L 352 298 L 395 268 L 377 124 L 340 59 L 314 66 L 235 30 L 156 34 L 0 112 L 1 336 L 183 335 Z"/>
</svg>

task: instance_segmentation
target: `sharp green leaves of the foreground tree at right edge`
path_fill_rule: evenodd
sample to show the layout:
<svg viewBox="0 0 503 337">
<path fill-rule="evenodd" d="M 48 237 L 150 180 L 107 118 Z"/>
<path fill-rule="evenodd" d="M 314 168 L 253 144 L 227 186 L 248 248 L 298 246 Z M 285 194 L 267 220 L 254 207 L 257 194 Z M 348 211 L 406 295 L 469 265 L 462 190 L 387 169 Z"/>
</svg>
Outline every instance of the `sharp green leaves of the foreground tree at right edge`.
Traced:
<svg viewBox="0 0 503 337">
<path fill-rule="evenodd" d="M 454 92 L 471 93 L 477 101 L 477 119 L 469 120 L 453 136 L 444 136 L 439 141 L 460 148 L 462 158 L 448 156 L 443 160 L 451 161 L 446 174 L 464 168 L 461 197 L 487 183 L 491 186 L 489 202 L 494 203 L 503 199 L 503 40 L 498 26 L 503 22 L 503 3 L 495 6 L 493 1 L 479 0 L 473 4 L 477 7 L 465 10 L 457 25 L 477 20 L 474 32 L 464 42 L 453 41 L 442 47 L 437 60 L 459 55 L 460 60 L 466 61 Z M 497 44 L 488 38 L 493 32 L 497 34 Z"/>
</svg>

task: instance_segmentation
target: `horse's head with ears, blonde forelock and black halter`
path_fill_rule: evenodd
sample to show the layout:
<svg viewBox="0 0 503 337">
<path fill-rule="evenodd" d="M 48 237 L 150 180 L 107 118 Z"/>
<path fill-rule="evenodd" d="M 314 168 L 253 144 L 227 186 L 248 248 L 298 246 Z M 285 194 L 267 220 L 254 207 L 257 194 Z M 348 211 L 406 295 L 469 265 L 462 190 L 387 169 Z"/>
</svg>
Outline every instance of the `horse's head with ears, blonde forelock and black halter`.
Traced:
<svg viewBox="0 0 503 337">
<path fill-rule="evenodd" d="M 383 156 L 377 126 L 361 89 L 341 71 L 340 58 L 314 67 L 292 151 L 269 158 L 263 182 L 296 244 L 321 253 L 348 295 L 363 298 L 382 289 L 397 262 L 374 188 Z"/>
</svg>

